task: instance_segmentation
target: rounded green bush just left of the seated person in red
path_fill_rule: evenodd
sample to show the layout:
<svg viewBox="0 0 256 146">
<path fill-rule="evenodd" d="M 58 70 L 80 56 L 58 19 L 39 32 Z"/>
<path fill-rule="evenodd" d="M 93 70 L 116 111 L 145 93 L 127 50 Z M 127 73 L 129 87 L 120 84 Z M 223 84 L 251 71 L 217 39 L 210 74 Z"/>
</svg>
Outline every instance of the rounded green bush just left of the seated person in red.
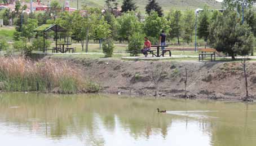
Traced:
<svg viewBox="0 0 256 146">
<path fill-rule="evenodd" d="M 140 33 L 135 33 L 129 37 L 129 44 L 127 52 L 130 52 L 131 56 L 138 56 L 140 50 L 143 48 L 144 36 Z"/>
</svg>

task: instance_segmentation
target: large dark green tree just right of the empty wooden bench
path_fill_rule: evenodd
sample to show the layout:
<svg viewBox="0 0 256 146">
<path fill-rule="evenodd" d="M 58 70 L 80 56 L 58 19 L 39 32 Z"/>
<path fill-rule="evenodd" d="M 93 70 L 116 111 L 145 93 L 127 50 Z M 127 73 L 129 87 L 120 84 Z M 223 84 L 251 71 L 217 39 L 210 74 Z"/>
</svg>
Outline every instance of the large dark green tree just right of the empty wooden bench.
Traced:
<svg viewBox="0 0 256 146">
<path fill-rule="evenodd" d="M 217 26 L 213 29 L 216 34 L 211 42 L 214 42 L 217 51 L 228 53 L 232 59 L 235 59 L 236 54 L 248 55 L 251 52 L 253 33 L 248 24 L 240 24 L 235 11 L 226 10 L 223 15 L 218 15 L 214 25 Z"/>
</svg>

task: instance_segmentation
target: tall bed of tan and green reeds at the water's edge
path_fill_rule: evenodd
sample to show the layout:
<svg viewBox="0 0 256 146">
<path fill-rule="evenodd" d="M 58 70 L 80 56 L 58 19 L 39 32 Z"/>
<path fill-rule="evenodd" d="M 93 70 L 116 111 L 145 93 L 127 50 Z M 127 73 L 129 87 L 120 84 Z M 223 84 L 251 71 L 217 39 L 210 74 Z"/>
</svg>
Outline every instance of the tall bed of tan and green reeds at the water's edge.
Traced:
<svg viewBox="0 0 256 146">
<path fill-rule="evenodd" d="M 72 94 L 98 92 L 100 87 L 86 81 L 81 69 L 67 61 L 33 62 L 24 57 L 0 57 L 0 90 Z"/>
</svg>

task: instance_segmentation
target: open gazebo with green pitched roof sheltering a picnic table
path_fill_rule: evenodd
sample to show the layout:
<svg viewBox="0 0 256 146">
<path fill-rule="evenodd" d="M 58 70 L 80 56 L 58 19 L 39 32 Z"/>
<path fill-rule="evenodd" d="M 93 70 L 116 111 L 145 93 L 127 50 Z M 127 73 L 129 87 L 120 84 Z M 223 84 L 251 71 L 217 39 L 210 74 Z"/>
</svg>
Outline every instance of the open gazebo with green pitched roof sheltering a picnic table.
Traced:
<svg viewBox="0 0 256 146">
<path fill-rule="evenodd" d="M 56 43 L 56 48 L 57 48 L 57 37 L 58 37 L 58 32 L 67 32 L 66 29 L 62 28 L 58 24 L 43 24 L 39 26 L 38 28 L 34 29 L 34 32 L 43 32 L 43 52 L 45 52 L 45 33 L 49 30 L 52 30 L 55 32 L 55 43 Z"/>
</svg>

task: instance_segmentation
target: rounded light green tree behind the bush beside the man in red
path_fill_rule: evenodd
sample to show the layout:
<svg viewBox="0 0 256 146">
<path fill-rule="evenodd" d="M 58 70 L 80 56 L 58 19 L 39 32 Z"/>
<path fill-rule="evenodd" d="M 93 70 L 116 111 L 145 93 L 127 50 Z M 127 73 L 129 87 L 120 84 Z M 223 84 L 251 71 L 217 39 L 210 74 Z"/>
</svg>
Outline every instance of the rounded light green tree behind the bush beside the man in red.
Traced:
<svg viewBox="0 0 256 146">
<path fill-rule="evenodd" d="M 117 18 L 117 33 L 123 41 L 128 41 L 135 32 L 142 31 L 142 24 L 134 12 L 127 12 Z"/>
</svg>

